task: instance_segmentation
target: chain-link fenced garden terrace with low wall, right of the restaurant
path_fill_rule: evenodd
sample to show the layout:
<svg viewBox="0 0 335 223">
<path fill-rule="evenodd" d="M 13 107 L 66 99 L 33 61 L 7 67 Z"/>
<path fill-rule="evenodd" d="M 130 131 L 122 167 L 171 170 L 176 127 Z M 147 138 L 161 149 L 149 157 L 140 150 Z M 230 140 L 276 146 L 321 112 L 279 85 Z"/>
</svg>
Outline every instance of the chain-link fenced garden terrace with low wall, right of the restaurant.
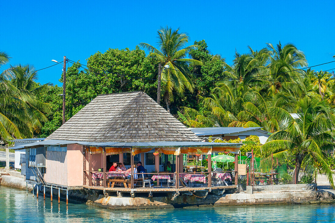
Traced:
<svg viewBox="0 0 335 223">
<path fill-rule="evenodd" d="M 249 157 L 241 156 L 238 165 L 238 185 L 242 191 L 246 191 L 247 186 L 253 186 L 256 191 L 310 190 L 304 184 L 314 183 L 311 173 L 296 173 L 296 164 L 291 166 L 273 155 L 266 158 L 255 157 L 254 153 Z"/>
</svg>

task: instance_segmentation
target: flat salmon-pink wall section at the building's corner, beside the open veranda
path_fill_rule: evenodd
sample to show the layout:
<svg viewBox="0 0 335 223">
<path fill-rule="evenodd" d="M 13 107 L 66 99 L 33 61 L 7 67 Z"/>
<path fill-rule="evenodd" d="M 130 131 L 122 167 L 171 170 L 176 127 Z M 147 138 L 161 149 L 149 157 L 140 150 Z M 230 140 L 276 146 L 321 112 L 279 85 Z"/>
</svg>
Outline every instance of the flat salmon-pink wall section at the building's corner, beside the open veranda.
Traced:
<svg viewBox="0 0 335 223">
<path fill-rule="evenodd" d="M 83 146 L 79 144 L 67 145 L 67 186 L 83 185 Z"/>
</svg>

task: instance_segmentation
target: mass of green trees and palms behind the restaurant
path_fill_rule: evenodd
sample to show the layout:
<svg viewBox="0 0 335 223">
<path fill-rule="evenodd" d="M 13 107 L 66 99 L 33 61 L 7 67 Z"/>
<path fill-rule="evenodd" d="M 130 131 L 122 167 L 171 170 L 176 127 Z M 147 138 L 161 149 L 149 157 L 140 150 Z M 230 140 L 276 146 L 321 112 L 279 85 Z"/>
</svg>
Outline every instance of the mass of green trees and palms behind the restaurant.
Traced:
<svg viewBox="0 0 335 223">
<path fill-rule="evenodd" d="M 160 64 L 161 105 L 185 125 L 262 127 L 273 134 L 258 155 L 273 153 L 294 167 L 297 162 L 297 173 L 301 168 L 324 173 L 333 185 L 333 73 L 322 66 L 305 69 L 305 53 L 292 43 L 249 47 L 226 61 L 205 40 L 189 44 L 180 29 L 162 27 L 156 36 L 152 45 L 143 39 L 132 50 L 92 52 L 85 64 L 69 60 L 66 119 L 99 94 L 140 90 L 156 99 Z M 1 52 L 0 66 L 8 60 Z M 36 84 L 29 66 L 5 70 L 0 78 L 2 137 L 45 137 L 61 125 L 60 87 Z"/>
</svg>

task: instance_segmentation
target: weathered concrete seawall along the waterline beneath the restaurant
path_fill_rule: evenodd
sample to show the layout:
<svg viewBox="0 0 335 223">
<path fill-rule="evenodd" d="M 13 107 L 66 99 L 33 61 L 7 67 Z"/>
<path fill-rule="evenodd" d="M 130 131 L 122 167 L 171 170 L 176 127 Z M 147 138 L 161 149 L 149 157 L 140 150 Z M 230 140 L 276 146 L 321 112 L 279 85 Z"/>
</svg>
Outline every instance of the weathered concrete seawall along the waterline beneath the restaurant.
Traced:
<svg viewBox="0 0 335 223">
<path fill-rule="evenodd" d="M 26 190 L 26 183 L 23 178 L 14 176 L 1 176 L 0 184 L 2 186 Z M 294 186 L 286 188 L 292 190 Z M 254 193 L 234 193 L 216 195 L 211 193 L 199 193 L 198 197 L 181 193 L 179 196 L 167 194 L 161 197 L 114 197 L 105 196 L 98 191 L 72 190 L 69 191 L 69 201 L 86 202 L 88 205 L 109 209 L 162 209 L 162 208 L 197 208 L 197 207 L 215 207 L 228 205 L 258 205 L 258 204 L 315 204 L 331 203 L 335 204 L 335 195 L 329 191 L 314 190 L 314 185 L 304 187 L 308 191 L 298 192 L 262 192 L 264 188 L 255 188 Z M 36 188 L 35 188 L 36 189 Z M 313 189 L 313 190 L 312 190 Z M 32 186 L 28 184 L 28 190 Z M 256 191 L 261 192 L 256 192 Z M 50 196 L 50 191 L 46 190 Z M 57 191 L 54 195 L 57 196 Z M 143 196 L 143 195 L 142 195 Z M 62 193 L 64 198 L 65 194 Z"/>
</svg>

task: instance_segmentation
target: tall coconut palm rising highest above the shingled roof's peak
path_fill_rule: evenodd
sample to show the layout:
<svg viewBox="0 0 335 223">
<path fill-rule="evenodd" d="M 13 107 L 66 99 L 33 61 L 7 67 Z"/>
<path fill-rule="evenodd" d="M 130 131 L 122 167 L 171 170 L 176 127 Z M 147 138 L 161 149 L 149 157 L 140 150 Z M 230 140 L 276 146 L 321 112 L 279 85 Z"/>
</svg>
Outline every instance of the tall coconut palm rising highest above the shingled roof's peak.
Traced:
<svg viewBox="0 0 335 223">
<path fill-rule="evenodd" d="M 179 94 L 184 94 L 185 88 L 193 92 L 194 84 L 188 65 L 202 65 L 200 61 L 186 58 L 189 51 L 197 45 L 185 47 L 189 37 L 179 31 L 179 28 L 172 30 L 167 26 L 158 30 L 159 49 L 148 43 L 140 43 L 140 46 L 150 51 L 149 56 L 154 57 L 157 63 L 162 66 L 169 65 L 169 68 L 163 69 L 161 73 L 164 101 L 168 112 L 170 112 L 169 105 L 174 100 L 173 90 Z"/>
</svg>

